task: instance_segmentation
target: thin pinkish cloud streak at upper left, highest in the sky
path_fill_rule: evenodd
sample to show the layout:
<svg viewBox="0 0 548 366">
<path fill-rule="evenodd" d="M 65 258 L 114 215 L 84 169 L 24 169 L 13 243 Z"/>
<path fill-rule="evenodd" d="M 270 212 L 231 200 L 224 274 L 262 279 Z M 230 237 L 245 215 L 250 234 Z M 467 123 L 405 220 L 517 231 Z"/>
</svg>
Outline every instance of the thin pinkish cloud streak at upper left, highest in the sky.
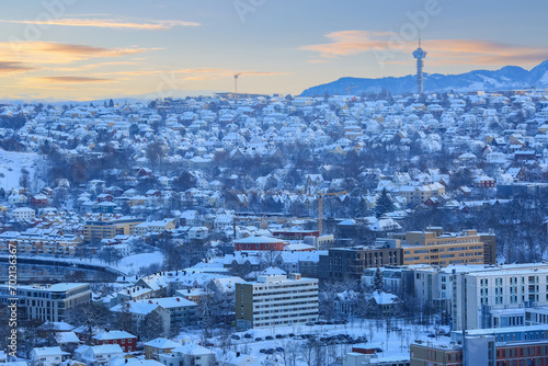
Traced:
<svg viewBox="0 0 548 366">
<path fill-rule="evenodd" d="M 116 19 L 78 19 L 65 18 L 48 21 L 30 21 L 30 20 L 8 20 L 0 19 L 0 23 L 11 24 L 37 24 L 37 25 L 65 25 L 65 26 L 93 26 L 114 30 L 144 30 L 144 31 L 163 31 L 170 30 L 173 26 L 198 26 L 197 22 L 185 22 L 175 20 L 156 21 L 156 22 L 130 22 Z"/>
</svg>

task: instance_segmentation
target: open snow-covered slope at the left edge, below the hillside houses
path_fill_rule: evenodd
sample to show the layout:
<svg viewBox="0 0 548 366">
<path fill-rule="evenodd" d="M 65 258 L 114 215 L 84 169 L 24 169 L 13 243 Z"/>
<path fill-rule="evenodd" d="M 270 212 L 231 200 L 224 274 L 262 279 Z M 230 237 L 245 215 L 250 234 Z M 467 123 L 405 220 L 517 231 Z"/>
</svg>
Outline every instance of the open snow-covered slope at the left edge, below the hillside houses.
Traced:
<svg viewBox="0 0 548 366">
<path fill-rule="evenodd" d="M 42 158 L 37 153 L 0 149 L 0 187 L 4 188 L 4 191 L 18 187 L 22 169 L 28 171 L 28 180 L 32 184 L 36 167 L 41 165 L 41 160 Z"/>
</svg>

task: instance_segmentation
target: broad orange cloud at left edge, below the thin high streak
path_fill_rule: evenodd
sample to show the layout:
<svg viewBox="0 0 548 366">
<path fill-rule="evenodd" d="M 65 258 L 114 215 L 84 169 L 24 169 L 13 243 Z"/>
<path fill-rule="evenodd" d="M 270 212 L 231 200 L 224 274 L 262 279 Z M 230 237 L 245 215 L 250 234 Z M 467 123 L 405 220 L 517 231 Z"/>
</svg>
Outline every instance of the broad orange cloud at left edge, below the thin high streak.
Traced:
<svg viewBox="0 0 548 366">
<path fill-rule="evenodd" d="M 116 47 L 105 48 L 89 45 L 55 42 L 0 42 L 0 58 L 18 58 L 33 64 L 69 64 L 95 57 L 122 57 L 158 48 Z"/>
</svg>

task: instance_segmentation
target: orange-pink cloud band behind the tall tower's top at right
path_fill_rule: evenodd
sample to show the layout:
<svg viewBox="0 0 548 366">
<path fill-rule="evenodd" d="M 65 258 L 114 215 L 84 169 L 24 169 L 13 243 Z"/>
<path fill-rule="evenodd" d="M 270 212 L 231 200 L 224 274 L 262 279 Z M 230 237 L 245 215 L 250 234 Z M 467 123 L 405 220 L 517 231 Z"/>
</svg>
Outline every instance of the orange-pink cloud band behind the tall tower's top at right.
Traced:
<svg viewBox="0 0 548 366">
<path fill-rule="evenodd" d="M 329 43 L 302 46 L 318 53 L 322 59 L 352 56 L 368 52 L 380 53 L 385 64 L 400 65 L 399 54 L 410 54 L 416 42 L 403 42 L 391 32 L 341 31 L 326 34 Z M 431 65 L 507 65 L 534 64 L 548 58 L 548 49 L 516 46 L 484 39 L 423 41 L 426 62 Z M 318 62 L 320 60 L 312 60 Z"/>
</svg>

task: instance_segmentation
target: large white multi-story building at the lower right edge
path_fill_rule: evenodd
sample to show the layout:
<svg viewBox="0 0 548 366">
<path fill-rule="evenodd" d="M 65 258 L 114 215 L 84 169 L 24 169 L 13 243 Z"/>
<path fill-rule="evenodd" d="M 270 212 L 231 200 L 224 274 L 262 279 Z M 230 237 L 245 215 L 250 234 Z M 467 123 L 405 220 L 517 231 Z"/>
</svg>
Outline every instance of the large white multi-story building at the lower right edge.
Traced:
<svg viewBox="0 0 548 366">
<path fill-rule="evenodd" d="M 453 329 L 541 323 L 548 305 L 548 264 L 409 266 L 419 304 L 452 316 Z"/>
</svg>

